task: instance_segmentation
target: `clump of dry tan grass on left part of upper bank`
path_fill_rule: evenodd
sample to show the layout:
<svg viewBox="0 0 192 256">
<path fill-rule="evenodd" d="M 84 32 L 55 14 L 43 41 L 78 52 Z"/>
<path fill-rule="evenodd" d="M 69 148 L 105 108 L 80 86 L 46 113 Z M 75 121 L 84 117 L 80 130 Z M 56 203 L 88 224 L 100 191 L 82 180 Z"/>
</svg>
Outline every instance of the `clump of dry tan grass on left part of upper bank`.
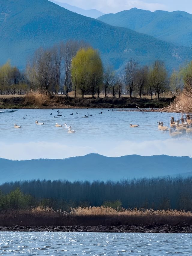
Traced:
<svg viewBox="0 0 192 256">
<path fill-rule="evenodd" d="M 28 93 L 25 95 L 25 104 L 43 106 L 48 104 L 49 95 L 40 93 Z"/>
</svg>

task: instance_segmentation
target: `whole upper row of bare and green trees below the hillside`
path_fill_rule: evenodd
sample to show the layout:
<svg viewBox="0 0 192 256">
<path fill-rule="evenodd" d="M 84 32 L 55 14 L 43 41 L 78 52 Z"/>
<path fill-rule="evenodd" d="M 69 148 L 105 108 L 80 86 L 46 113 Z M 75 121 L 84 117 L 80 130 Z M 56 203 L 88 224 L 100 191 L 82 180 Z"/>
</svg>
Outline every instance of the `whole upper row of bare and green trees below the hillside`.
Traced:
<svg viewBox="0 0 192 256">
<path fill-rule="evenodd" d="M 12 67 L 10 62 L 0 66 L 0 95 L 28 92 L 64 94 L 77 93 L 82 97 L 100 95 L 130 97 L 156 95 L 165 92 L 178 94 L 186 89 L 192 94 L 192 64 L 170 75 L 163 61 L 141 66 L 131 58 L 122 72 L 103 65 L 98 50 L 84 42 L 61 42 L 49 49 L 40 47 L 28 60 L 25 71 Z"/>
</svg>

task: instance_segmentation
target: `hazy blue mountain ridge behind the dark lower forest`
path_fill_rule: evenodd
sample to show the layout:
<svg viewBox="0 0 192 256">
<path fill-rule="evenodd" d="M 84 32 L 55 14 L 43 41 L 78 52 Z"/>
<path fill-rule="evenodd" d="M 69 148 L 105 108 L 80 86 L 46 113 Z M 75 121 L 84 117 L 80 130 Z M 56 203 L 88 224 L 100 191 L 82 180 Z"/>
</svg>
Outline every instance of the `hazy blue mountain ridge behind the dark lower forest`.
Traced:
<svg viewBox="0 0 192 256">
<path fill-rule="evenodd" d="M 0 158 L 0 183 L 30 179 L 121 180 L 125 178 L 192 175 L 192 158 L 127 155 L 118 158 L 89 154 L 62 160 L 12 161 Z"/>
</svg>

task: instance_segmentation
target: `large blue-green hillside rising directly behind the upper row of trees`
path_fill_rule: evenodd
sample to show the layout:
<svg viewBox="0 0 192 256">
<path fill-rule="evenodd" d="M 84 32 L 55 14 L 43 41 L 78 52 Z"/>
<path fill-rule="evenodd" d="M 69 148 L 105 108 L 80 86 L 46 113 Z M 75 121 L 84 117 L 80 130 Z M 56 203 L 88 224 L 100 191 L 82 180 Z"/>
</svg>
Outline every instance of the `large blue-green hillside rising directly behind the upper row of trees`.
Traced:
<svg viewBox="0 0 192 256">
<path fill-rule="evenodd" d="M 189 48 L 84 17 L 48 0 L 0 0 L 0 64 L 10 59 L 25 68 L 38 47 L 69 39 L 89 43 L 115 69 L 134 57 L 142 65 L 162 59 L 171 70 L 192 57 Z"/>
</svg>

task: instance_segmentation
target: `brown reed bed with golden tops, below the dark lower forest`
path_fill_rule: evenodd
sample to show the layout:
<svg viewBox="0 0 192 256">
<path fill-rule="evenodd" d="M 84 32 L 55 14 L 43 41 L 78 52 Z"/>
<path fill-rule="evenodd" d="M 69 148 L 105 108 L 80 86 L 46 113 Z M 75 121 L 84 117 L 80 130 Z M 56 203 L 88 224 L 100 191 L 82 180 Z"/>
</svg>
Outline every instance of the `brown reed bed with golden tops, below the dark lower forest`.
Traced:
<svg viewBox="0 0 192 256">
<path fill-rule="evenodd" d="M 0 212 L 0 226 L 119 226 L 192 225 L 192 212 L 177 210 L 112 209 L 78 207 L 68 211 L 51 208 Z"/>
</svg>

